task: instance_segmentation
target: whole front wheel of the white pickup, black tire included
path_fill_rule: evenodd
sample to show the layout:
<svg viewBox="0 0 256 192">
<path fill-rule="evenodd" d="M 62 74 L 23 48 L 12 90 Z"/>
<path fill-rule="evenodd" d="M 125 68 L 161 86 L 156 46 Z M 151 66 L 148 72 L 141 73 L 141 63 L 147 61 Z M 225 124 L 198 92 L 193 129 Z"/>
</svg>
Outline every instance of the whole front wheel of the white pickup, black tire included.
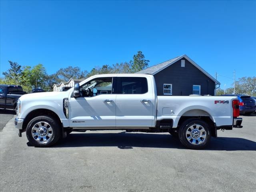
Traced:
<svg viewBox="0 0 256 192">
<path fill-rule="evenodd" d="M 39 126 L 39 124 L 41 126 Z M 37 128 L 38 131 L 36 131 Z M 39 133 L 40 129 L 43 134 L 46 134 L 45 136 Z M 46 131 L 46 133 L 44 131 Z M 32 132 L 34 135 L 32 135 Z M 36 147 L 49 147 L 54 145 L 60 139 L 60 133 L 60 124 L 56 119 L 50 116 L 38 116 L 33 118 L 28 123 L 28 126 L 26 128 L 26 136 L 28 138 L 28 141 L 30 142 L 30 144 Z"/>
</svg>

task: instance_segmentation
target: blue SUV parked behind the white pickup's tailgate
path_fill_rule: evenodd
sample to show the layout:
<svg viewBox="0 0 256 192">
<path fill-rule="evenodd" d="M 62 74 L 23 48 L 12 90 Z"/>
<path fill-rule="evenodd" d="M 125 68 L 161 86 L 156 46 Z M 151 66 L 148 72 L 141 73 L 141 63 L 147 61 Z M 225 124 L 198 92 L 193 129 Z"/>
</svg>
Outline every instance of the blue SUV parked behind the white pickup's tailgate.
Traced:
<svg viewBox="0 0 256 192">
<path fill-rule="evenodd" d="M 248 114 L 249 115 L 249 114 L 255 112 L 255 110 L 256 110 L 255 100 L 248 95 L 225 94 L 225 95 L 221 95 L 221 96 L 237 96 L 238 100 L 240 101 L 240 104 L 239 104 L 240 114 Z"/>
</svg>

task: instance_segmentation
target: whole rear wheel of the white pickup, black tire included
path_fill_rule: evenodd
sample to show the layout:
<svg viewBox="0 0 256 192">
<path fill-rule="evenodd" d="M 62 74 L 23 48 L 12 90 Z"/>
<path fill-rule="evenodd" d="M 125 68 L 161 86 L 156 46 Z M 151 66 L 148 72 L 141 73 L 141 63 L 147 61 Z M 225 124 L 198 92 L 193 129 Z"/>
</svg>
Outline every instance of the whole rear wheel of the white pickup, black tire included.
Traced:
<svg viewBox="0 0 256 192">
<path fill-rule="evenodd" d="M 190 134 L 187 134 L 187 131 Z M 200 119 L 188 119 L 180 126 L 179 139 L 180 142 L 189 149 L 204 149 L 211 139 L 210 128 L 206 122 Z"/>
</svg>

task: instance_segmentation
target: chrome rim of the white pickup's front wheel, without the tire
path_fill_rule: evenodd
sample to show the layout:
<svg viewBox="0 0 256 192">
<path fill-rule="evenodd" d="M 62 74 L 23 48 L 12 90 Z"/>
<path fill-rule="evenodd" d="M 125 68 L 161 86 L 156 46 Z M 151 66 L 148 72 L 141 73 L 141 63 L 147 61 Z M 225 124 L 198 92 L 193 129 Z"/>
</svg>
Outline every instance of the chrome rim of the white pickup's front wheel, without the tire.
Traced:
<svg viewBox="0 0 256 192">
<path fill-rule="evenodd" d="M 44 121 L 34 124 L 32 130 L 32 137 L 38 143 L 48 143 L 53 139 L 54 132 L 52 127 Z"/>
</svg>

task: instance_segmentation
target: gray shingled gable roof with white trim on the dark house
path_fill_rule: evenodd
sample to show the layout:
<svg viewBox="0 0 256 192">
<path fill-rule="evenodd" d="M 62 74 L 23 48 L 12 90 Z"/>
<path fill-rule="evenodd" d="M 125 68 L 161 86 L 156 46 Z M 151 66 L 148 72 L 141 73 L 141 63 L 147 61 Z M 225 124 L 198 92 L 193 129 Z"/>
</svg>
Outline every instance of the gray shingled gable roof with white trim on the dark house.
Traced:
<svg viewBox="0 0 256 192">
<path fill-rule="evenodd" d="M 162 62 L 160 64 L 154 65 L 152 67 L 149 67 L 147 69 L 144 69 L 142 71 L 136 72 L 140 74 L 157 74 L 158 72 L 164 70 L 166 67 L 174 64 L 176 61 L 186 58 L 190 63 L 192 63 L 196 68 L 198 68 L 200 71 L 202 71 L 206 76 L 208 76 L 211 80 L 213 80 L 216 84 L 220 84 L 213 76 L 211 76 L 208 72 L 206 72 L 203 68 L 201 68 L 198 64 L 196 64 L 192 59 L 190 59 L 186 55 L 178 56 L 176 58 L 170 59 L 168 61 Z"/>
</svg>

